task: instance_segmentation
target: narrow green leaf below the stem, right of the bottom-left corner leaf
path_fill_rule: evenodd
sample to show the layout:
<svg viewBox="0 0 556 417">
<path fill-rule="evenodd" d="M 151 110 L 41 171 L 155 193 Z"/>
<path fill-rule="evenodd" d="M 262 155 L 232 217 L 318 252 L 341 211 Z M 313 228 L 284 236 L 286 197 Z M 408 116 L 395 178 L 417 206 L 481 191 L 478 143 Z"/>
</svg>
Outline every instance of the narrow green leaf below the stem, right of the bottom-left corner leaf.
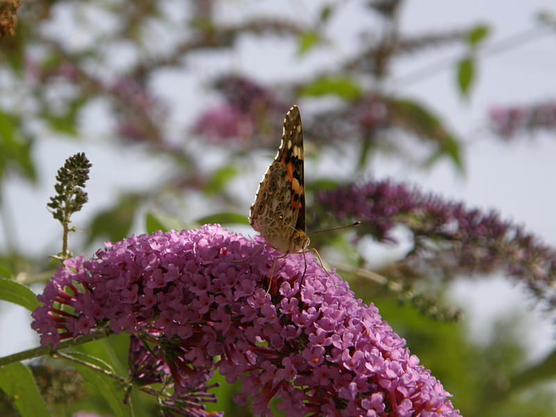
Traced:
<svg viewBox="0 0 556 417">
<path fill-rule="evenodd" d="M 87 366 L 79 365 L 79 363 L 72 362 L 77 372 L 81 374 L 85 381 L 95 386 L 99 393 L 110 405 L 116 417 L 132 417 L 130 404 L 124 404 L 126 392 L 122 384 L 115 381 L 115 379 L 104 375 L 96 370 L 88 368 Z"/>
</svg>

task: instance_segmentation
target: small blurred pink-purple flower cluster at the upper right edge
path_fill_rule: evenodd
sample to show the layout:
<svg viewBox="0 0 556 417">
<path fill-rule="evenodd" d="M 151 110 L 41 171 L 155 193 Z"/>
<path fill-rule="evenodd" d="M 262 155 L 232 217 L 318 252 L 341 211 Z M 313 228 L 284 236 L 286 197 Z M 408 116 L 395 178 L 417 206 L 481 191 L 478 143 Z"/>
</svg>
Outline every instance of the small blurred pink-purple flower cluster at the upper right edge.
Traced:
<svg viewBox="0 0 556 417">
<path fill-rule="evenodd" d="M 518 133 L 556 130 L 554 101 L 533 106 L 494 106 L 489 113 L 494 131 L 507 139 Z"/>
</svg>

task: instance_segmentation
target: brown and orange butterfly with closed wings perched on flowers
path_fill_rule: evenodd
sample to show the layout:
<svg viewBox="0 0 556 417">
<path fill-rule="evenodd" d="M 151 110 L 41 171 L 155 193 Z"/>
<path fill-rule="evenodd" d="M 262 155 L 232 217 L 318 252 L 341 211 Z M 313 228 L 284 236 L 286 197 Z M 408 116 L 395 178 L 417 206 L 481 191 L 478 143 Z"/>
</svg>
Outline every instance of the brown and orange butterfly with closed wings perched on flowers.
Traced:
<svg viewBox="0 0 556 417">
<path fill-rule="evenodd" d="M 303 129 L 297 106 L 286 114 L 278 153 L 259 184 L 249 222 L 268 245 L 282 254 L 280 258 L 309 252 L 305 250 L 309 236 L 305 233 Z M 275 266 L 276 260 L 270 282 Z"/>
</svg>

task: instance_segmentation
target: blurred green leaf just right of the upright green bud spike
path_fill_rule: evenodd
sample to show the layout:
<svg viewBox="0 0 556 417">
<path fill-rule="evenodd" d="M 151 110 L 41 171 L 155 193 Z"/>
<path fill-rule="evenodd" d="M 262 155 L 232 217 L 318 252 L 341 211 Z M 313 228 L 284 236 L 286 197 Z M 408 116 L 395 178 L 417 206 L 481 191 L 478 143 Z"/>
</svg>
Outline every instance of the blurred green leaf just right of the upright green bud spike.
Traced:
<svg viewBox="0 0 556 417">
<path fill-rule="evenodd" d="M 138 195 L 124 195 L 117 206 L 99 213 L 92 220 L 87 243 L 90 245 L 96 238 L 117 242 L 128 237 L 139 202 Z"/>
</svg>

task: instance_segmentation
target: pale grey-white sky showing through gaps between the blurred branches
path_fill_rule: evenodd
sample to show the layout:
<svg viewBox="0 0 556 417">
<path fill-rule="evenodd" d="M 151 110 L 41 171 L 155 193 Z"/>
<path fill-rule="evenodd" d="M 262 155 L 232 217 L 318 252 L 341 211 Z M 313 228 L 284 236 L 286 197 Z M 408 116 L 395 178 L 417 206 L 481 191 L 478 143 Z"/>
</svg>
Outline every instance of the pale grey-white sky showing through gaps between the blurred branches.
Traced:
<svg viewBox="0 0 556 417">
<path fill-rule="evenodd" d="M 188 62 L 186 73 L 171 71 L 158 77 L 154 80 L 154 88 L 169 99 L 176 109 L 172 113 L 176 126 L 172 132 L 174 136 L 179 139 L 183 127 L 214 102 L 215 95 L 204 89 L 213 76 L 233 69 L 262 83 L 278 83 L 309 76 L 338 57 L 350 56 L 357 50 L 357 33 L 361 28 L 373 27 L 378 22 L 372 19 L 363 21 L 361 13 L 357 13 L 360 7 L 361 2 L 347 2 L 347 8 L 334 17 L 334 24 L 328 33 L 334 40 L 332 51 L 315 51 L 308 58 L 300 60 L 295 56 L 292 42 L 281 42 L 276 38 L 245 39 L 235 51 L 220 56 L 195 56 Z M 314 3 L 308 0 L 236 0 L 223 1 L 220 12 L 222 20 L 231 22 L 252 13 L 273 13 L 301 19 L 302 22 L 313 22 L 315 10 Z M 402 7 L 400 26 L 402 33 L 411 35 L 468 28 L 484 22 L 493 30 L 485 44 L 488 50 L 491 44 L 539 26 L 537 13 L 543 10 L 556 14 L 556 3 L 550 0 L 409 0 Z M 79 27 L 68 24 L 63 15 L 58 16 L 58 19 L 65 23 L 54 25 L 51 28 L 53 33 L 70 40 L 74 47 L 86 42 Z M 422 172 L 407 167 L 395 158 L 384 156 L 373 161 L 372 171 L 368 175 L 377 179 L 389 177 L 418 184 L 425 191 L 464 200 L 470 207 L 477 206 L 485 210 L 496 208 L 502 218 L 525 224 L 528 231 L 556 247 L 556 134 L 538 135 L 534 140 L 518 138 L 507 145 L 484 129 L 488 109 L 493 104 L 533 104 L 556 99 L 556 29 L 500 54 L 480 54 L 479 75 L 470 101 L 459 96 L 453 65 L 442 67 L 445 62 L 455 62 L 463 53 L 464 49 L 453 47 L 431 49 L 430 53 L 398 60 L 386 88 L 400 97 L 413 97 L 427 104 L 464 140 L 465 175 L 457 174 L 449 163 L 439 163 L 430 172 Z M 126 54 L 115 54 L 115 64 L 120 59 L 124 66 L 127 58 Z M 407 76 L 435 63 L 439 63 L 438 66 L 443 69 L 422 79 L 404 82 Z M 301 102 L 302 111 L 304 104 L 311 106 L 309 102 Z M 38 138 L 35 161 L 42 181 L 38 186 L 33 188 L 17 179 L 8 183 L 4 201 L 8 202 L 13 217 L 18 247 L 46 256 L 44 251 L 48 247 L 56 247 L 60 242 L 61 227 L 52 220 L 45 204 L 53 194 L 56 170 L 63 165 L 67 156 L 85 152 L 93 163 L 87 188 L 90 202 L 83 212 L 72 219 L 78 227 L 80 221 L 85 223 L 85 219 L 95 212 L 110 206 L 120 190 L 149 189 L 168 175 L 170 165 L 167 161 L 154 161 L 139 149 L 130 150 L 113 145 L 113 141 L 106 136 L 109 122 L 105 112 L 102 106 L 91 106 L 83 119 L 83 133 L 95 138 L 86 145 L 52 136 Z M 245 199 L 246 215 L 257 183 L 272 156 L 261 156 L 261 161 L 254 163 L 254 174 L 247 180 L 248 185 L 233 184 L 234 189 L 245 190 L 242 198 Z M 319 170 L 326 166 L 330 170 L 330 161 L 330 157 L 326 156 L 318 166 L 308 161 L 308 179 L 311 169 Z M 342 170 L 343 167 L 338 167 L 337 174 L 341 175 Z M 201 211 L 202 202 L 197 202 L 183 213 L 184 219 L 193 219 Z M 249 229 L 240 230 L 254 234 Z M 138 223 L 133 231 L 144 231 L 142 224 Z M 1 236 L 4 236 L 3 232 Z M 0 245 L 5 245 L 3 237 L 0 238 Z M 377 256 L 382 254 L 379 250 L 375 253 Z M 550 319 L 542 318 L 539 313 L 530 313 L 529 302 L 523 291 L 514 288 L 502 277 L 473 282 L 457 281 L 450 295 L 455 302 L 465 307 L 468 322 L 471 323 L 471 334 L 480 341 L 488 340 L 493 320 L 516 314 L 530 324 L 523 338 L 524 341 L 534 341 L 528 343 L 532 361 L 541 359 L 556 347 Z M 0 302 L 0 314 L 0 356 L 38 345 L 38 338 L 28 327 L 31 322 L 28 312 Z"/>
</svg>

